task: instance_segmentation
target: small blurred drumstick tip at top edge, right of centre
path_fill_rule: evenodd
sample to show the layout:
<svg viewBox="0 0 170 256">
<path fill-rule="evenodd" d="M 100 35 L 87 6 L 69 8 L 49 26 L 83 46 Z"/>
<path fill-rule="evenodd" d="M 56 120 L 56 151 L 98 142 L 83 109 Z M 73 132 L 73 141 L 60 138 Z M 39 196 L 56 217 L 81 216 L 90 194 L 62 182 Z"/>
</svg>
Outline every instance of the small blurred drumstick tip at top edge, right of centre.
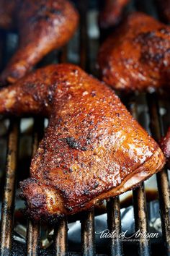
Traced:
<svg viewBox="0 0 170 256">
<path fill-rule="evenodd" d="M 117 25 L 129 1 L 130 0 L 105 0 L 104 9 L 99 14 L 100 27 L 105 29 Z"/>
</svg>

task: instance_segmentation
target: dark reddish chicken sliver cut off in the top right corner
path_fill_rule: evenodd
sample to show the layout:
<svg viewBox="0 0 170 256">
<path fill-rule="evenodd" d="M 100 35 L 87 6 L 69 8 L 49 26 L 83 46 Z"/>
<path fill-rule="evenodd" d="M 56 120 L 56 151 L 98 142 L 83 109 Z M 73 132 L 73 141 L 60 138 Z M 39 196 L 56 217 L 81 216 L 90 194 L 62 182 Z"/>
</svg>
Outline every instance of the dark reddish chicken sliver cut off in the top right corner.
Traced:
<svg viewBox="0 0 170 256">
<path fill-rule="evenodd" d="M 155 0 L 158 6 L 158 13 L 164 22 L 170 22 L 170 0 Z"/>
</svg>

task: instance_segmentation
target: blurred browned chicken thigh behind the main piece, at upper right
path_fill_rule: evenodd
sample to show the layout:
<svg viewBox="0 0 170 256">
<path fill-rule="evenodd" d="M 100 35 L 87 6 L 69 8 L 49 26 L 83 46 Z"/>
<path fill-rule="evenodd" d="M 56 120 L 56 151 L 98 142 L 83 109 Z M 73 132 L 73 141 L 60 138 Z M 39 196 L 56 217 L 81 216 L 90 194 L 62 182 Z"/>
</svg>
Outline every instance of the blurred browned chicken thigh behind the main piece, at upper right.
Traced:
<svg viewBox="0 0 170 256">
<path fill-rule="evenodd" d="M 102 80 L 117 90 L 170 85 L 170 27 L 147 14 L 130 14 L 103 43 L 98 64 Z"/>
</svg>

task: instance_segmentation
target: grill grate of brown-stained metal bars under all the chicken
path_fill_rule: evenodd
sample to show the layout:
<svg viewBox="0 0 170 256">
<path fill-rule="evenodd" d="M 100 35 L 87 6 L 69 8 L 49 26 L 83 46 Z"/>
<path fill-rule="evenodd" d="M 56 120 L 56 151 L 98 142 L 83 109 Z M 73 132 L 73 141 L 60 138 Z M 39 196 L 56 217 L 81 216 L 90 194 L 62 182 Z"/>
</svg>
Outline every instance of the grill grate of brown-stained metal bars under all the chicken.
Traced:
<svg viewBox="0 0 170 256">
<path fill-rule="evenodd" d="M 80 12 L 80 66 L 83 69 L 88 69 L 88 43 L 89 38 L 87 35 L 86 24 L 86 10 L 87 1 L 79 1 Z M 3 38 L 4 33 L 3 33 Z M 4 52 L 4 40 L 1 40 L 1 52 Z M 3 59 L 1 60 L 3 61 Z M 61 62 L 67 61 L 67 47 L 64 47 L 60 56 Z M 2 64 L 2 62 L 1 62 Z M 159 96 L 156 93 L 144 95 L 146 98 L 148 113 L 150 118 L 151 134 L 156 140 L 159 140 L 164 133 L 162 129 L 162 117 L 160 115 Z M 127 101 L 127 100 L 126 100 Z M 138 119 L 137 100 L 136 95 L 130 96 L 128 99 L 128 106 L 130 112 Z M 35 119 L 33 142 L 32 142 L 32 155 L 37 150 L 38 142 L 42 137 L 44 129 L 44 120 Z M 19 120 L 11 119 L 9 125 L 9 142 L 8 153 L 6 155 L 6 176 L 4 185 L 4 199 L 1 211 L 1 255 L 10 255 L 12 249 L 12 235 L 13 235 L 13 222 L 14 222 L 14 196 L 15 196 L 15 183 L 16 183 L 16 170 L 17 170 L 17 152 L 19 139 Z M 166 255 L 170 253 L 170 221 L 169 221 L 169 183 L 167 176 L 167 169 L 157 174 L 158 183 L 158 197 L 161 210 L 161 224 L 162 233 L 164 236 L 164 247 Z M 141 187 L 133 190 L 133 206 L 135 216 L 135 230 L 140 229 L 141 232 L 148 231 L 148 218 L 146 210 L 146 192 L 144 184 Z M 110 232 L 116 231 L 117 237 L 121 232 L 121 219 L 120 219 L 120 199 L 119 197 L 111 198 L 107 201 L 107 225 Z M 67 234 L 68 226 L 67 219 L 58 223 L 54 231 L 54 244 L 55 255 L 66 255 L 67 253 Z M 40 240 L 40 226 L 38 224 L 28 222 L 27 226 L 27 255 L 39 254 L 39 240 Z M 94 210 L 82 213 L 81 217 L 81 253 L 83 255 L 95 255 L 95 237 L 94 237 Z M 121 239 L 109 239 L 109 255 L 122 255 L 122 242 Z M 125 253 L 125 252 L 124 252 Z M 140 237 L 138 241 L 138 253 L 142 256 L 150 255 L 150 243 L 148 239 Z"/>
</svg>

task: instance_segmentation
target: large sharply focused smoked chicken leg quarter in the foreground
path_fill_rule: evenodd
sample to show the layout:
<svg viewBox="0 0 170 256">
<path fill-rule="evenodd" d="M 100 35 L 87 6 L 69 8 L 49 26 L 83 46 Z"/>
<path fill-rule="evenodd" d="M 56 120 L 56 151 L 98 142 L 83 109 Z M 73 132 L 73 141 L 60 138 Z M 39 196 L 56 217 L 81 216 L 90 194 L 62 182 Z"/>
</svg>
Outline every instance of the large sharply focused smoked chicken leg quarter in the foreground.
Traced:
<svg viewBox="0 0 170 256">
<path fill-rule="evenodd" d="M 136 187 L 164 166 L 157 143 L 115 93 L 73 64 L 50 65 L 0 90 L 0 114 L 49 117 L 21 183 L 27 213 L 55 221 Z"/>
</svg>

